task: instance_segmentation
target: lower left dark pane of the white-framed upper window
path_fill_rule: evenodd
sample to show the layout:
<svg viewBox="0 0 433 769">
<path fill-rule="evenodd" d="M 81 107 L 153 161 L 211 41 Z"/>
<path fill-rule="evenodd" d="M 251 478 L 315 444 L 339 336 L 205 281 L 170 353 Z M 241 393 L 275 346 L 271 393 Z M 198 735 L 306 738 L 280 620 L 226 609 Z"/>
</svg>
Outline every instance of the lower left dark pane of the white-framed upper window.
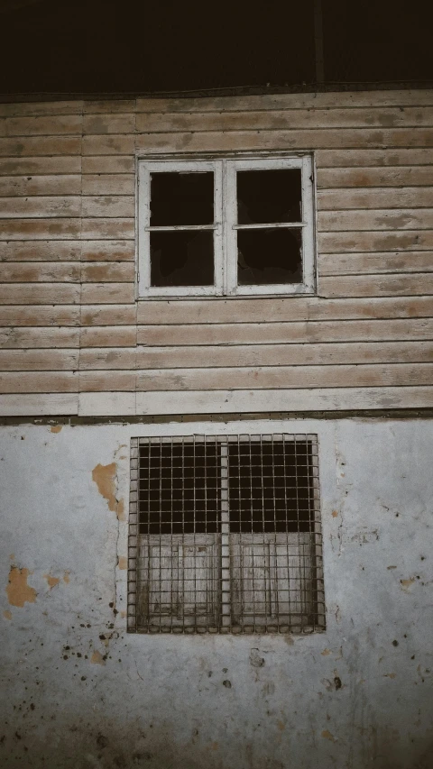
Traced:
<svg viewBox="0 0 433 769">
<path fill-rule="evenodd" d="M 213 231 L 151 232 L 151 286 L 212 286 Z"/>
</svg>

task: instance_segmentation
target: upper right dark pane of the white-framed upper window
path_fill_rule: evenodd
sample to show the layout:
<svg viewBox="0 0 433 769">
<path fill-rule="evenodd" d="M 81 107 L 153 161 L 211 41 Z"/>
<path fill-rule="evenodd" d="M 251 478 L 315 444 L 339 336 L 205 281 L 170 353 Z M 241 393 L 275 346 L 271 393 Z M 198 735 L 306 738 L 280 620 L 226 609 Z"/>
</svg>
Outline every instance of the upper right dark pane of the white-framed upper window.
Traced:
<svg viewBox="0 0 433 769">
<path fill-rule="evenodd" d="M 301 221 L 300 169 L 237 172 L 237 223 Z"/>
</svg>

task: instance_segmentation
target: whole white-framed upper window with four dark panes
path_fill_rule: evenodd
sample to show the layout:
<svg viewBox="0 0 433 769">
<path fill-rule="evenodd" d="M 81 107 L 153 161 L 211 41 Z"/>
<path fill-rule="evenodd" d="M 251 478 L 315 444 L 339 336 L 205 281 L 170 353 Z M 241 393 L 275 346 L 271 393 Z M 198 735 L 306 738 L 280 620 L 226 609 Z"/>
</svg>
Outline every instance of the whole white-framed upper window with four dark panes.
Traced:
<svg viewBox="0 0 433 769">
<path fill-rule="evenodd" d="M 138 160 L 138 297 L 311 294 L 310 155 Z"/>
</svg>

